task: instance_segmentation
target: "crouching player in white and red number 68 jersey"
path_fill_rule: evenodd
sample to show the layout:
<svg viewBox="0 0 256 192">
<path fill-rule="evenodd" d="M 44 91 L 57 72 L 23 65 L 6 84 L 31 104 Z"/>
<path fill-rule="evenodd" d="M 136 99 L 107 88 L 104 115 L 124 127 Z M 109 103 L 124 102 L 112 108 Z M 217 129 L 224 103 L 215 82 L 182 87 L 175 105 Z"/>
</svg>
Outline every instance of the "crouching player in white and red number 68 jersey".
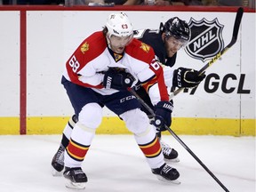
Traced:
<svg viewBox="0 0 256 192">
<path fill-rule="evenodd" d="M 110 14 L 102 31 L 84 39 L 68 59 L 61 80 L 77 117 L 64 152 L 68 188 L 85 188 L 82 163 L 100 126 L 103 106 L 124 120 L 152 172 L 161 180 L 179 183 L 180 173 L 164 163 L 154 126 L 127 90 L 140 82 L 156 106 L 155 125 L 170 126 L 172 103 L 163 74 L 153 49 L 133 38 L 132 24 L 123 12 Z"/>
</svg>

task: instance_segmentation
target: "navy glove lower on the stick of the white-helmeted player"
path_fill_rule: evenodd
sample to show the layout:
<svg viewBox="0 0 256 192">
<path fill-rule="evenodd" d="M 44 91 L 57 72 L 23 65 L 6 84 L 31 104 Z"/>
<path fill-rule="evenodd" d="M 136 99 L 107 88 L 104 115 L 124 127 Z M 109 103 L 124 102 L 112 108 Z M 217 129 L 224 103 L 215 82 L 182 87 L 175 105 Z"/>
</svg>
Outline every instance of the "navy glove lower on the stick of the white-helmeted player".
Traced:
<svg viewBox="0 0 256 192">
<path fill-rule="evenodd" d="M 170 127 L 172 124 L 172 102 L 159 101 L 155 107 L 154 125 L 160 132 L 166 131 L 165 125 Z"/>
</svg>

